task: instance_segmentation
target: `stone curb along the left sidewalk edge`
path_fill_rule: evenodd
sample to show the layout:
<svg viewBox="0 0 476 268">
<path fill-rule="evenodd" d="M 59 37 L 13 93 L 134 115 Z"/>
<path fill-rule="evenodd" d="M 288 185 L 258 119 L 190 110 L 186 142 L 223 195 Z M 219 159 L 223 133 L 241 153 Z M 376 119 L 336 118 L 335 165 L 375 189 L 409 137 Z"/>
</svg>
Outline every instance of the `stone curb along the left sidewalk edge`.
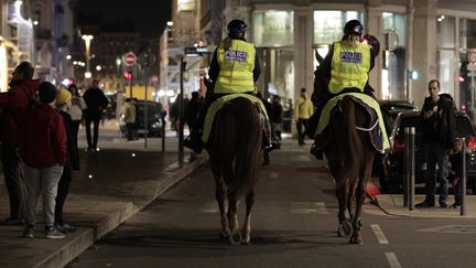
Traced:
<svg viewBox="0 0 476 268">
<path fill-rule="evenodd" d="M 125 202 L 122 207 L 107 218 L 97 223 L 94 227 L 88 228 L 83 232 L 78 237 L 57 249 L 44 260 L 36 264 L 35 268 L 55 268 L 64 267 L 76 257 L 78 257 L 83 251 L 90 247 L 96 240 L 105 236 L 112 229 L 117 228 L 120 224 L 127 221 L 129 217 L 133 216 L 136 213 L 140 212 L 143 207 L 149 205 L 152 201 L 163 194 L 166 190 L 173 186 L 175 183 L 180 182 L 182 179 L 192 173 L 195 169 L 201 167 L 208 157 L 204 153 L 195 159 L 193 162 L 186 163 L 185 161 L 176 161 L 165 168 L 164 173 L 166 174 L 164 179 L 158 183 L 155 189 L 155 194 L 149 201 L 144 202 L 140 206 L 133 202 Z"/>
</svg>

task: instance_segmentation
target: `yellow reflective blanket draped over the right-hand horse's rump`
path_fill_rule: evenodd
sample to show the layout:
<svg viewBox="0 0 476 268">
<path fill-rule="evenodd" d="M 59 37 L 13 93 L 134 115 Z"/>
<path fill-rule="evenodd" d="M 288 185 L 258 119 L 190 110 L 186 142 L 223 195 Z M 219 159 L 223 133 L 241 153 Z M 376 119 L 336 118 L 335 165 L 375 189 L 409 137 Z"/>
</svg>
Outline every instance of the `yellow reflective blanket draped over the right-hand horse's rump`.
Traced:
<svg viewBox="0 0 476 268">
<path fill-rule="evenodd" d="M 329 99 L 327 104 L 324 106 L 324 109 L 321 114 L 317 129 L 315 132 L 316 137 L 316 147 L 318 149 L 322 149 L 327 141 L 329 140 L 329 131 L 327 130 L 327 126 L 329 124 L 331 117 L 334 114 L 336 106 L 338 103 L 346 96 L 351 96 L 354 99 L 357 100 L 358 104 L 360 104 L 371 116 L 370 126 L 361 126 L 364 128 L 371 128 L 375 124 L 378 124 L 377 126 L 369 131 L 370 138 L 372 140 L 374 148 L 383 153 L 386 149 L 390 148 L 390 143 L 387 137 L 386 127 L 383 124 L 383 117 L 380 112 L 380 106 L 372 97 L 361 94 L 361 93 L 346 93 L 342 95 L 337 95 Z M 360 127 L 360 126 L 359 126 Z"/>
</svg>

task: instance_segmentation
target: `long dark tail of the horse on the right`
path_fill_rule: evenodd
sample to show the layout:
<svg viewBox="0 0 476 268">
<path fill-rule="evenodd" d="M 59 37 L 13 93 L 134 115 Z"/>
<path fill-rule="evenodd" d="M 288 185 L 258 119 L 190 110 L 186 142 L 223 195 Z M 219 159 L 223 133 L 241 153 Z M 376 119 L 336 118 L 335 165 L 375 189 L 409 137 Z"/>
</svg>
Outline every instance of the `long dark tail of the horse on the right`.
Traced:
<svg viewBox="0 0 476 268">
<path fill-rule="evenodd" d="M 348 179 L 355 180 L 359 176 L 360 160 L 363 159 L 363 144 L 360 142 L 357 132 L 356 112 L 358 110 L 355 107 L 355 103 L 350 97 L 345 97 L 342 100 L 343 116 L 344 116 L 344 137 L 343 142 L 347 142 L 345 148 L 348 149 L 348 153 L 345 154 L 345 163 L 348 168 Z"/>
</svg>

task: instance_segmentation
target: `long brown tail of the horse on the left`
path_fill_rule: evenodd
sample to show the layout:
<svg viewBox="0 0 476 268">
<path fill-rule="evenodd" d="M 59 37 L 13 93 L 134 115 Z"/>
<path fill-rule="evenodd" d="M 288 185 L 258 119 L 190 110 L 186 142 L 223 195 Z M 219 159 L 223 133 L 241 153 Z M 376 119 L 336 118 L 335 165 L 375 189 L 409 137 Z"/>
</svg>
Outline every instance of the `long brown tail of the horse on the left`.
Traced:
<svg viewBox="0 0 476 268">
<path fill-rule="evenodd" d="M 235 161 L 235 180 L 229 192 L 241 196 L 257 178 L 261 150 L 262 126 L 259 108 L 246 98 L 238 98 L 237 105 L 237 136 L 238 151 Z"/>
</svg>

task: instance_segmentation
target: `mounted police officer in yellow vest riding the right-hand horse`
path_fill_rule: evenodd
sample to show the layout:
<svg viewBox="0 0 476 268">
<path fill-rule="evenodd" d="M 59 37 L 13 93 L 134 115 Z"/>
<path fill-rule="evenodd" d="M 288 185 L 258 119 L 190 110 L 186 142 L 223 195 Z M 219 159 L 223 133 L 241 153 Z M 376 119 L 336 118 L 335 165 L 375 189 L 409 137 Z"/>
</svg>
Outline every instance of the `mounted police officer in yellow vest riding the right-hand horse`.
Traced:
<svg viewBox="0 0 476 268">
<path fill-rule="evenodd" d="M 328 79 L 327 87 L 314 86 L 317 108 L 310 119 L 309 135 L 314 137 L 318 119 L 325 104 L 343 93 L 365 93 L 374 97 L 374 89 L 368 85 L 368 73 L 375 65 L 372 46 L 363 43 L 364 25 L 358 20 L 350 20 L 344 26 L 344 36 L 335 42 L 325 56 L 318 71 Z M 375 98 L 375 97 L 374 97 Z M 317 159 L 323 152 L 315 148 L 311 151 Z"/>
</svg>

